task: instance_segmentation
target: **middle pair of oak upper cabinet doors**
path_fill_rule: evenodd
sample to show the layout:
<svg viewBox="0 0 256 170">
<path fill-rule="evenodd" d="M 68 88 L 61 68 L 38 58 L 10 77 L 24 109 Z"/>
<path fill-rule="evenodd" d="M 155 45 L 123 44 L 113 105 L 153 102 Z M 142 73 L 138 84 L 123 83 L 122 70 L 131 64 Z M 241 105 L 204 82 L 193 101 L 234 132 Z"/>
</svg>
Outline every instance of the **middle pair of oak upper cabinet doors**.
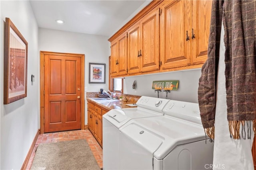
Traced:
<svg viewBox="0 0 256 170">
<path fill-rule="evenodd" d="M 128 73 L 159 70 L 159 8 L 128 30 Z"/>
</svg>

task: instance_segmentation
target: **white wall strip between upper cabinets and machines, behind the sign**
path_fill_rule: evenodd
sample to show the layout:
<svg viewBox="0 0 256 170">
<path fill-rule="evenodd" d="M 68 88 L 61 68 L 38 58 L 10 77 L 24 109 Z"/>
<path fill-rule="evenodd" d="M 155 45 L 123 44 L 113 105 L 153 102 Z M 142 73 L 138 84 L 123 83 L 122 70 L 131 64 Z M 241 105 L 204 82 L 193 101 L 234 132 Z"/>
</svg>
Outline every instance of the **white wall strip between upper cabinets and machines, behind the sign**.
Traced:
<svg viewBox="0 0 256 170">
<path fill-rule="evenodd" d="M 153 81 L 179 80 L 178 90 L 168 93 L 168 99 L 198 103 L 197 92 L 200 76 L 201 69 L 126 77 L 124 78 L 124 94 L 157 97 L 157 92 L 152 89 Z M 137 83 L 136 90 L 132 89 L 134 80 Z M 159 98 L 165 97 L 166 92 L 159 93 Z"/>
</svg>

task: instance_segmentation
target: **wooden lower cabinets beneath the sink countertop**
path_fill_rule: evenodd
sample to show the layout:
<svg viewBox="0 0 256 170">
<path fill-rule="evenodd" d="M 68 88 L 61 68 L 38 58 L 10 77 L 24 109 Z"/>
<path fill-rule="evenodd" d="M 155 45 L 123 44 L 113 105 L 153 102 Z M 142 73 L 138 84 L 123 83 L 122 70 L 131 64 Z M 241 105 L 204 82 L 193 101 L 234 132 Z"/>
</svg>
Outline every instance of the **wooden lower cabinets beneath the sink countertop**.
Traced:
<svg viewBox="0 0 256 170">
<path fill-rule="evenodd" d="M 102 147 L 102 115 L 108 112 L 108 110 L 100 107 L 92 102 L 87 103 L 88 106 L 88 129 L 94 135 Z"/>
</svg>

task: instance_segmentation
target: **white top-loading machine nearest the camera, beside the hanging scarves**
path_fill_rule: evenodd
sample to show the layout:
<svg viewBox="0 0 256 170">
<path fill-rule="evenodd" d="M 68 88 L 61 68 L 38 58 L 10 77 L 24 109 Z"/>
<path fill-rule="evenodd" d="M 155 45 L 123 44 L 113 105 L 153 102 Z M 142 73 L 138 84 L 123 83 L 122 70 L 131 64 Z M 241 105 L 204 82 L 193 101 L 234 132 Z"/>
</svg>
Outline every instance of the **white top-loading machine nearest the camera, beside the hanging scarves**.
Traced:
<svg viewBox="0 0 256 170">
<path fill-rule="evenodd" d="M 120 170 L 201 170 L 213 160 L 198 104 L 171 100 L 164 116 L 133 119 L 120 128 Z"/>
</svg>

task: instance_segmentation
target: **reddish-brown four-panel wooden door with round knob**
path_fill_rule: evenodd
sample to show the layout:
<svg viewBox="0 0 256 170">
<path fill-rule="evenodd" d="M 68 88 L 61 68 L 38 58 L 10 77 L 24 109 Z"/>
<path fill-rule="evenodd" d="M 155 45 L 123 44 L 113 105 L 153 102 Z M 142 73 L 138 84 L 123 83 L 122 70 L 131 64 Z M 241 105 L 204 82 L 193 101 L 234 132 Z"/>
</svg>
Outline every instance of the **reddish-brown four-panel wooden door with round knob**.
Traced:
<svg viewBox="0 0 256 170">
<path fill-rule="evenodd" d="M 82 129 L 82 61 L 81 55 L 44 55 L 44 133 Z"/>
</svg>

